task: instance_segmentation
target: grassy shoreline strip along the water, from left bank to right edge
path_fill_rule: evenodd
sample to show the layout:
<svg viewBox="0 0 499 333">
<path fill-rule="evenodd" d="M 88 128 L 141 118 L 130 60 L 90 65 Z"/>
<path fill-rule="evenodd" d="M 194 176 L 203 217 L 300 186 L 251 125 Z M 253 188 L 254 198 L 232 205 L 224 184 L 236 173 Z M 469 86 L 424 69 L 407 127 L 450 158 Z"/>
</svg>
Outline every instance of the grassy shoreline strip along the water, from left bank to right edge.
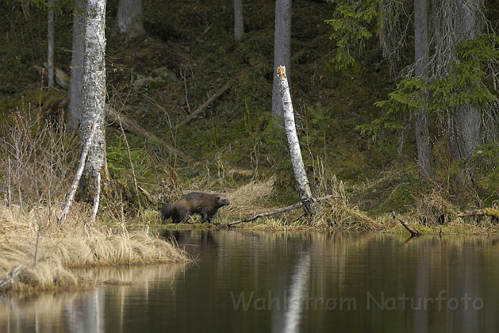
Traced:
<svg viewBox="0 0 499 333">
<path fill-rule="evenodd" d="M 0 294 L 37 293 L 41 291 L 74 291 L 94 288 L 105 281 L 88 280 L 74 272 L 79 269 L 119 266 L 149 266 L 151 264 L 177 264 L 194 262 L 192 255 L 178 247 L 176 241 L 160 234 L 158 230 L 238 230 L 241 232 L 345 232 L 410 234 L 394 219 L 372 219 L 338 223 L 337 225 L 305 225 L 303 221 L 287 223 L 286 219 L 259 219 L 240 223 L 230 228 L 221 228 L 232 221 L 228 216 L 217 217 L 209 223 L 96 223 L 84 230 L 82 219 L 85 212 L 75 210 L 65 225 L 46 223 L 42 225 L 39 260 L 34 267 L 37 224 L 31 216 L 33 210 L 24 213 L 13 207 L 0 210 Z M 11 214 L 10 219 L 6 218 Z M 408 216 L 400 216 L 408 219 Z M 158 212 L 158 221 L 159 212 Z M 499 234 L 499 225 L 491 221 L 469 223 L 455 219 L 446 225 L 423 225 L 409 221 L 425 235 L 474 235 L 494 236 Z M 366 228 L 367 227 L 367 228 Z M 20 270 L 20 271 L 19 271 Z M 110 282 L 121 283 L 121 282 Z M 125 283 L 125 282 L 124 282 Z"/>
</svg>

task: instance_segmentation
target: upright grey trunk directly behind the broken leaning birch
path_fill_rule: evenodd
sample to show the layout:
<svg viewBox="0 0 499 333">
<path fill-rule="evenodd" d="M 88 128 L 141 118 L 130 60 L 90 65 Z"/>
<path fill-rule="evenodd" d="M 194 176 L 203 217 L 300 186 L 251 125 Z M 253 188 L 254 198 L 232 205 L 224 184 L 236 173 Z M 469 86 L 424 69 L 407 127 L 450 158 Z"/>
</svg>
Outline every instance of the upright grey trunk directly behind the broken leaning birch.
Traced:
<svg viewBox="0 0 499 333">
<path fill-rule="evenodd" d="M 276 28 L 273 49 L 273 88 L 272 113 L 282 117 L 281 97 L 279 93 L 279 78 L 276 72 L 278 66 L 287 70 L 287 80 L 291 74 L 291 0 L 276 0 Z"/>
</svg>

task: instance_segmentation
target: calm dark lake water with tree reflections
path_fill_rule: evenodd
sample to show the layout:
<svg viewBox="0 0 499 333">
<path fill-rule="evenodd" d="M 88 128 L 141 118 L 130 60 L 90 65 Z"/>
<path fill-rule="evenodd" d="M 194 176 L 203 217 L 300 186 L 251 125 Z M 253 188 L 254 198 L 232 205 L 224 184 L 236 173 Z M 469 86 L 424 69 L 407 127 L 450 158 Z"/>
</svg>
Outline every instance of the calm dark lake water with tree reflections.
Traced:
<svg viewBox="0 0 499 333">
<path fill-rule="evenodd" d="M 0 332 L 499 332 L 498 237 L 187 230 L 194 264 L 0 298 Z"/>
</svg>

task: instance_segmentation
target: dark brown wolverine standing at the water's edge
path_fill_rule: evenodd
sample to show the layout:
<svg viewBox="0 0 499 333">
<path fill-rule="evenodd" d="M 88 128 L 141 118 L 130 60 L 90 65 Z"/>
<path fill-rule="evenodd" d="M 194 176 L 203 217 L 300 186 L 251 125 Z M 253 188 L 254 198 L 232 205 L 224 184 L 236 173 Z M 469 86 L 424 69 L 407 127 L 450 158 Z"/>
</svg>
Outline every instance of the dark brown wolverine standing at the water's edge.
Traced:
<svg viewBox="0 0 499 333">
<path fill-rule="evenodd" d="M 161 208 L 164 221 L 171 218 L 172 223 L 184 223 L 189 216 L 201 215 L 201 223 L 213 223 L 214 215 L 220 207 L 229 205 L 229 199 L 223 194 L 192 192 L 180 198 L 176 203 L 167 203 Z"/>
</svg>

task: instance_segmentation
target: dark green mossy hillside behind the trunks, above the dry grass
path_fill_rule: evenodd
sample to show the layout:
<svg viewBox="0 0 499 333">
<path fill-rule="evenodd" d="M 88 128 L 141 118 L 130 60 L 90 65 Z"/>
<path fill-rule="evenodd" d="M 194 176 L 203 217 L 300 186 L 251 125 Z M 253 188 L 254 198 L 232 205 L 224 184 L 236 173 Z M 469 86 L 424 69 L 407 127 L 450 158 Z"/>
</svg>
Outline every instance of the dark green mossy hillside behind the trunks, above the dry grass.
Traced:
<svg viewBox="0 0 499 333">
<path fill-rule="evenodd" d="M 366 8 L 383 3 L 365 2 Z M 355 61 L 341 65 L 331 62 L 341 54 L 337 46 L 341 35 L 325 21 L 341 18 L 342 3 L 292 2 L 290 83 L 312 187 L 316 195 L 325 195 L 341 181 L 350 203 L 373 214 L 416 210 L 437 219 L 449 214 L 451 206 L 490 207 L 499 199 L 495 134 L 481 139 L 466 160 L 457 160 L 445 133 L 446 117 L 430 108 L 435 175 L 422 180 L 414 133 L 417 112 L 410 108 L 393 112 L 390 105 L 375 105 L 388 101 L 394 91 L 405 96 L 398 85 L 403 76 L 398 74 L 414 63 L 414 7 L 410 1 L 402 3 L 406 15 L 398 26 L 406 33 L 398 61 L 382 53 L 379 20 L 355 17 L 372 36 L 350 40 L 348 51 Z M 73 6 L 59 1 L 55 10 L 54 64 L 66 74 L 71 71 Z M 137 181 L 158 204 L 187 189 L 228 191 L 270 179 L 269 205 L 295 203 L 286 138 L 272 114 L 275 1 L 243 2 L 240 41 L 235 40 L 232 1 L 143 1 L 145 33 L 130 39 L 112 33 L 118 1 L 107 1 L 106 6 L 108 104 L 192 158 L 186 162 L 141 135 L 126 133 L 125 142 L 117 124 L 110 124 L 108 167 L 120 195 L 130 202 L 139 196 L 133 191 L 129 144 Z M 11 114 L 19 112 L 50 119 L 63 128 L 67 91 L 57 85 L 46 89 L 46 81 L 40 89 L 41 74 L 35 69 L 47 58 L 45 3 L 6 0 L 0 10 L 3 123 L 12 123 Z M 490 27 L 497 28 L 497 1 L 486 4 L 484 15 Z M 495 36 L 493 30 L 489 33 Z M 494 41 L 489 60 L 497 65 Z M 482 82 L 493 101 L 498 73 L 496 67 L 490 68 L 491 72 L 484 70 Z M 217 99 L 183 123 L 227 84 L 230 87 Z M 491 118 L 496 116 L 491 113 Z M 491 133 L 496 131 L 494 123 Z M 76 155 L 77 144 L 68 146 Z"/>
</svg>

